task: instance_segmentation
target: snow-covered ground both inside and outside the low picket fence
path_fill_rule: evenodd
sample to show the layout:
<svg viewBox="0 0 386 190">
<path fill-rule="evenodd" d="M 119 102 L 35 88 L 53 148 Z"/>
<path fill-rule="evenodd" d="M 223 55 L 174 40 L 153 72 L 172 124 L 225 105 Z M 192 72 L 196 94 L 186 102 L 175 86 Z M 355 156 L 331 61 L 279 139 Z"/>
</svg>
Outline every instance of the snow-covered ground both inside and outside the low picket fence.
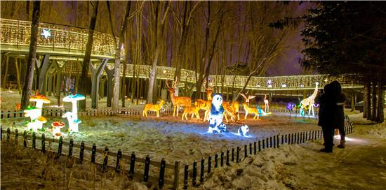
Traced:
<svg viewBox="0 0 386 190">
<path fill-rule="evenodd" d="M 4 100 L 4 96 L 2 97 Z M 11 99 L 6 98 L 9 105 Z M 1 108 L 3 110 L 3 108 Z M 244 117 L 244 116 L 242 116 Z M 335 148 L 332 154 L 319 152 L 323 140 L 302 145 L 282 145 L 264 149 L 241 163 L 216 168 L 206 175 L 197 189 L 385 189 L 386 187 L 386 125 L 371 124 L 361 114 L 351 114 L 354 133 L 347 136 L 345 149 Z M 48 123 L 59 117 L 49 117 Z M 319 130 L 315 119 L 288 119 L 273 113 L 259 121 L 252 119 L 227 124 L 230 133 L 210 135 L 207 124 L 196 120 L 181 122 L 177 117 L 81 117 L 80 133 L 68 135 L 75 143 L 95 142 L 98 147 L 122 149 L 124 154 L 149 154 L 152 160 L 192 163 L 237 145 L 267 138 L 276 134 Z M 25 119 L 2 119 L 6 128 L 22 130 Z M 65 121 L 64 119 L 62 120 Z M 248 138 L 234 133 L 241 124 L 250 127 Z M 46 126 L 47 127 L 47 126 Z M 67 128 L 65 128 L 67 129 Z M 63 130 L 65 131 L 65 130 Z M 46 131 L 46 136 L 48 132 Z M 335 140 L 338 145 L 339 140 Z M 55 163 L 55 164 L 54 164 Z M 65 159 L 48 158 L 39 152 L 11 145 L 1 146 L 1 187 L 4 189 L 153 189 L 149 184 L 127 180 L 114 171 L 102 174 L 90 172 L 88 163 L 67 168 Z M 180 176 L 180 179 L 182 176 Z M 182 185 L 182 182 L 180 182 Z M 191 184 L 191 182 L 189 182 Z M 191 187 L 189 187 L 191 188 Z"/>
</svg>

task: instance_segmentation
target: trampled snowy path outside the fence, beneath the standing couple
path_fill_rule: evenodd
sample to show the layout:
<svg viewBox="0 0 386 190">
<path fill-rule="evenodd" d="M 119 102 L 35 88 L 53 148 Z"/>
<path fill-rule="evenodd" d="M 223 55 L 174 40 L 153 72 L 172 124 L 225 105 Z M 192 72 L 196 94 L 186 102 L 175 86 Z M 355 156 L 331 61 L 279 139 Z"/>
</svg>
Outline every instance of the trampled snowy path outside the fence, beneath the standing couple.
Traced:
<svg viewBox="0 0 386 190">
<path fill-rule="evenodd" d="M 198 189 L 386 189 L 386 124 L 356 119 L 345 149 L 319 152 L 323 140 L 265 149 L 216 168 Z"/>
</svg>

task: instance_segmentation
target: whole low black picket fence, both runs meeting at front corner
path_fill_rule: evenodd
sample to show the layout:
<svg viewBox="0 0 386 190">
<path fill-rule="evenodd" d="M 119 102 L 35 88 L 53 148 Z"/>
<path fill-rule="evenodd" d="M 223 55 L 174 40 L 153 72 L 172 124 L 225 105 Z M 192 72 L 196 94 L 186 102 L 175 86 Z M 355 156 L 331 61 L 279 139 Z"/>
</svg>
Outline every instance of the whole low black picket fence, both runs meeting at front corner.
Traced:
<svg viewBox="0 0 386 190">
<path fill-rule="evenodd" d="M 138 112 L 137 112 L 138 113 Z M 126 111 L 125 111 L 126 114 Z M 350 118 L 345 115 L 345 131 L 347 134 L 353 132 L 353 124 Z M 114 169 L 117 173 L 126 172 L 130 179 L 135 177 L 138 180 L 143 182 L 152 182 L 158 184 L 161 189 L 165 184 L 169 185 L 173 189 L 178 189 L 180 184 L 180 176 L 183 176 L 183 189 L 188 189 L 188 187 L 198 187 L 199 184 L 204 183 L 204 176 L 206 173 L 211 173 L 214 168 L 229 166 L 231 162 L 239 163 L 242 159 L 246 159 L 248 156 L 253 156 L 261 152 L 262 149 L 267 148 L 279 148 L 284 144 L 301 144 L 307 140 L 318 140 L 323 138 L 323 133 L 321 130 L 315 131 L 302 131 L 298 133 L 291 133 L 285 135 L 276 135 L 262 140 L 249 143 L 249 145 L 244 145 L 243 147 L 237 146 L 232 147 L 232 149 L 227 149 L 226 151 L 218 152 L 208 158 L 202 158 L 201 161 L 194 161 L 192 164 L 185 163 L 185 166 L 180 169 L 180 162 L 175 161 L 174 165 L 166 163 L 164 159 L 161 161 L 151 161 L 149 156 L 146 156 L 145 159 L 137 158 L 133 152 L 131 155 L 126 155 L 121 152 L 119 149 L 117 152 L 109 151 L 108 147 L 105 149 L 98 149 L 95 144 L 92 147 L 86 146 L 82 141 L 81 144 L 74 144 L 74 140 L 71 139 L 69 142 L 65 142 L 62 138 L 53 139 L 45 138 L 45 135 L 42 134 L 41 137 L 36 136 L 35 133 L 32 135 L 27 134 L 27 131 L 19 133 L 16 129 L 11 132 L 11 129 L 6 131 L 0 130 L 0 140 L 3 140 L 3 135 L 6 134 L 6 140 L 10 140 L 11 136 L 15 137 L 16 142 L 22 137 L 24 147 L 28 147 L 28 140 L 32 140 L 32 149 L 40 150 L 41 152 L 50 152 L 46 150 L 46 142 L 56 143 L 58 145 L 58 152 L 53 151 L 57 156 L 66 155 L 62 152 L 64 145 L 68 146 L 67 156 L 77 159 L 79 163 L 82 163 L 85 155 L 85 151 L 91 152 L 91 163 L 95 163 L 100 166 L 103 171 L 106 171 L 107 168 Z M 41 146 L 36 147 L 36 140 L 41 141 Z M 74 147 L 79 149 L 79 157 L 74 156 Z M 244 151 L 243 151 L 244 150 Z M 51 151 L 52 152 L 52 151 Z M 98 154 L 98 155 L 97 155 Z M 109 156 L 115 158 L 115 164 L 109 164 Z M 95 161 L 99 157 L 102 160 L 102 163 Z M 111 163 L 111 161 L 110 161 Z M 121 167 L 121 163 L 128 163 L 128 168 Z M 143 167 L 143 173 L 138 172 L 138 169 L 135 166 L 135 163 L 145 164 Z M 153 166 L 159 168 L 159 175 L 149 175 L 149 167 Z M 173 170 L 173 179 L 165 178 L 165 170 Z"/>
</svg>

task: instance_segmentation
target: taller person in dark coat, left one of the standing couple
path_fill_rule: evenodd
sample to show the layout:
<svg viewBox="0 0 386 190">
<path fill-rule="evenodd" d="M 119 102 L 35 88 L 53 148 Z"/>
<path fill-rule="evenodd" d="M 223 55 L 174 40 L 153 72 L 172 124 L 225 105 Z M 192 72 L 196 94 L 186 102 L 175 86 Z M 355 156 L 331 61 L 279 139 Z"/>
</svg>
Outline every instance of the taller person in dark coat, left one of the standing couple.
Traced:
<svg viewBox="0 0 386 190">
<path fill-rule="evenodd" d="M 327 84 L 324 86 L 324 94 L 321 94 L 319 103 L 319 121 L 324 138 L 324 149 L 321 152 L 333 152 L 333 85 Z"/>
</svg>

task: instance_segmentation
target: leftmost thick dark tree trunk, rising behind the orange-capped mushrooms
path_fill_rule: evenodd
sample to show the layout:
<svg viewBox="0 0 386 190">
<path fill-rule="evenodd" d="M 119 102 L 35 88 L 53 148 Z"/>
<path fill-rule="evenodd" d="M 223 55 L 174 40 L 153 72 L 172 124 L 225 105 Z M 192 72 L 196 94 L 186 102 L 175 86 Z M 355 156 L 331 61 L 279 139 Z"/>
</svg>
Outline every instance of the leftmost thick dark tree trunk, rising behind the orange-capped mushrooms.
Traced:
<svg viewBox="0 0 386 190">
<path fill-rule="evenodd" d="M 33 1 L 34 10 L 32 13 L 32 24 L 31 24 L 31 41 L 29 43 L 29 54 L 27 61 L 27 73 L 25 75 L 25 83 L 22 88 L 22 100 L 21 109 L 24 110 L 29 104 L 29 95 L 32 89 L 32 82 L 34 80 L 34 65 L 36 59 L 36 46 L 37 36 L 39 33 L 39 18 L 40 18 L 40 1 Z"/>
</svg>

